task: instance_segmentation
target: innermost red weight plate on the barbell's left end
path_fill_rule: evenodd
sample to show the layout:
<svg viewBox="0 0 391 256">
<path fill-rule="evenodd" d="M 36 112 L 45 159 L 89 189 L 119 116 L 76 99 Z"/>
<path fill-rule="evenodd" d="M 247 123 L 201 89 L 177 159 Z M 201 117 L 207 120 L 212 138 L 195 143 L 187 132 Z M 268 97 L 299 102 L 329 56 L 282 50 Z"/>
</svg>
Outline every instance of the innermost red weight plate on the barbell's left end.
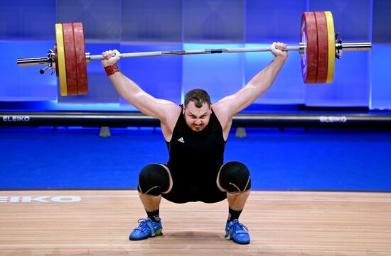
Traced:
<svg viewBox="0 0 391 256">
<path fill-rule="evenodd" d="M 85 60 L 84 30 L 82 23 L 73 23 L 73 35 L 75 35 L 78 94 L 87 94 L 87 62 Z"/>
</svg>

